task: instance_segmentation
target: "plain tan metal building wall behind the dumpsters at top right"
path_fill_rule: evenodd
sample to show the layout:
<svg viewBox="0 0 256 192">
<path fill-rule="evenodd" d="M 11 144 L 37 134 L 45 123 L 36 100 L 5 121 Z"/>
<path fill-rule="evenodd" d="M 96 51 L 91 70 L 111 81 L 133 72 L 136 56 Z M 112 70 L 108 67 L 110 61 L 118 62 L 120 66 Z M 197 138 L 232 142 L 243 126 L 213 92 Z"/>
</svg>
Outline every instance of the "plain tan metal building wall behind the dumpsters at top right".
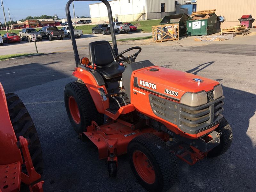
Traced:
<svg viewBox="0 0 256 192">
<path fill-rule="evenodd" d="M 221 28 L 240 25 L 238 21 L 242 15 L 252 15 L 256 18 L 256 0 L 197 0 L 196 10 L 216 9 L 218 16 L 225 17 Z M 256 25 L 256 21 L 252 26 Z"/>
</svg>

